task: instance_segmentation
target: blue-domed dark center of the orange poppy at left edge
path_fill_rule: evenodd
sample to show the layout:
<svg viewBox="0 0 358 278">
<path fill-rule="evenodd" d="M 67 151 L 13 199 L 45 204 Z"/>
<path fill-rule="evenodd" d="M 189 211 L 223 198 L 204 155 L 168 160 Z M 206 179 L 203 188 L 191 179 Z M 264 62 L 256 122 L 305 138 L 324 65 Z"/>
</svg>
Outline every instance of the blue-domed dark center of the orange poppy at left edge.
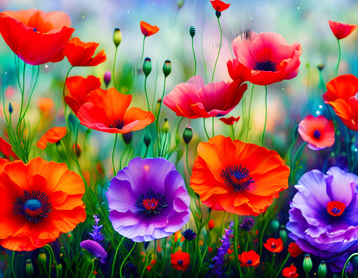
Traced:
<svg viewBox="0 0 358 278">
<path fill-rule="evenodd" d="M 43 221 L 47 213 L 52 210 L 51 203 L 45 193 L 24 190 L 24 194 L 16 198 L 13 212 L 24 215 L 26 219 L 35 223 Z"/>
</svg>

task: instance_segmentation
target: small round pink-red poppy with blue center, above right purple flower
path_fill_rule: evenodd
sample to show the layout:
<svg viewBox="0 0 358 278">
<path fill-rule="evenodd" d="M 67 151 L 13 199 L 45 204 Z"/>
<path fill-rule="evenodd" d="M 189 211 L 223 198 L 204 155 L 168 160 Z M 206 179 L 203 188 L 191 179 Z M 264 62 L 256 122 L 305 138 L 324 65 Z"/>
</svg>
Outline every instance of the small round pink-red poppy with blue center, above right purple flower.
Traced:
<svg viewBox="0 0 358 278">
<path fill-rule="evenodd" d="M 319 115 L 317 118 L 309 115 L 301 120 L 298 125 L 298 133 L 312 150 L 331 147 L 335 140 L 333 121 L 323 115 Z"/>
</svg>

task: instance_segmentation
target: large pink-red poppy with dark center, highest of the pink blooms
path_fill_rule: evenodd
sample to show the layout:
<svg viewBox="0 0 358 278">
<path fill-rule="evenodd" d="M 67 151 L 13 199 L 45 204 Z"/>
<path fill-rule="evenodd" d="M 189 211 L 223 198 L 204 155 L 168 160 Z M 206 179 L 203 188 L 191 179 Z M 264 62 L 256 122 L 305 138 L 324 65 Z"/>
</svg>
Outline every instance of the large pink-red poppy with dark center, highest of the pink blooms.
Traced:
<svg viewBox="0 0 358 278">
<path fill-rule="evenodd" d="M 302 46 L 287 44 L 280 34 L 251 31 L 249 39 L 238 36 L 232 41 L 232 50 L 237 58 L 227 62 L 233 80 L 248 80 L 257 85 L 269 85 L 296 77 Z"/>
</svg>

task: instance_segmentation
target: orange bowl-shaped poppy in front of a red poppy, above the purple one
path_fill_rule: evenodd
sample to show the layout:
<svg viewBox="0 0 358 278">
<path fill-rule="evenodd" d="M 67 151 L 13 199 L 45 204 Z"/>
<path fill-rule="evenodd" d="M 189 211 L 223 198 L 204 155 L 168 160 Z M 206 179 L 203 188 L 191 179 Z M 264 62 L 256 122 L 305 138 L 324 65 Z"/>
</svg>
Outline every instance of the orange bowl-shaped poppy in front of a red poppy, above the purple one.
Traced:
<svg viewBox="0 0 358 278">
<path fill-rule="evenodd" d="M 128 109 L 132 95 L 124 95 L 115 88 L 97 89 L 87 96 L 77 112 L 81 124 L 108 133 L 128 133 L 153 123 L 154 115 L 138 107 Z M 128 110 L 127 110 L 128 109 Z"/>
</svg>

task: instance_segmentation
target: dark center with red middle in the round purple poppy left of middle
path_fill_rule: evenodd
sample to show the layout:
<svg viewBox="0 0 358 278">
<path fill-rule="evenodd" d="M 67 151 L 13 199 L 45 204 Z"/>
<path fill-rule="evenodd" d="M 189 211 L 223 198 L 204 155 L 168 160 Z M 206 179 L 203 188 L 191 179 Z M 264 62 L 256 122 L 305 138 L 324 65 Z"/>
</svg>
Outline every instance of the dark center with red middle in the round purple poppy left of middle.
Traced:
<svg viewBox="0 0 358 278">
<path fill-rule="evenodd" d="M 161 193 L 154 194 L 153 190 L 149 189 L 146 195 L 141 194 L 135 202 L 135 207 L 138 209 L 138 214 L 150 215 L 160 214 L 161 209 L 166 207 L 165 195 Z"/>
</svg>

